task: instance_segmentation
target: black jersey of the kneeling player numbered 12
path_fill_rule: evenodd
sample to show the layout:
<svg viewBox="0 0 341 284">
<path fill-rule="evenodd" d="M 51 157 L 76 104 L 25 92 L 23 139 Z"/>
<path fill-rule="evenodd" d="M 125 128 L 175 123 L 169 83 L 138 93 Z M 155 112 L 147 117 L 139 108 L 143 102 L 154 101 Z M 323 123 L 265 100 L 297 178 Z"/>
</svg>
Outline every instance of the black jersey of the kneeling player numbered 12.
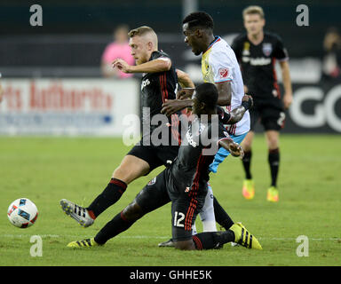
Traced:
<svg viewBox="0 0 341 284">
<path fill-rule="evenodd" d="M 180 190 L 198 191 L 210 179 L 209 166 L 218 151 L 218 141 L 230 138 L 218 120 L 195 119 L 182 139 L 178 157 L 171 165 L 171 183 Z"/>
</svg>

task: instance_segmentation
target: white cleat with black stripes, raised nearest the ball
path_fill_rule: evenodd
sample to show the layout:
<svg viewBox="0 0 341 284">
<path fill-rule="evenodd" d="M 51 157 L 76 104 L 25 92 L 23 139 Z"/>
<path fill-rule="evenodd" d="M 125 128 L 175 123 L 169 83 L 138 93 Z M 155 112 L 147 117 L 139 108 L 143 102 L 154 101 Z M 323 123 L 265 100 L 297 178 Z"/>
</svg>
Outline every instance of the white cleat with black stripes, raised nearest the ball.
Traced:
<svg viewBox="0 0 341 284">
<path fill-rule="evenodd" d="M 62 199 L 60 201 L 61 209 L 69 216 L 75 219 L 79 225 L 84 228 L 93 224 L 94 220 L 90 217 L 87 209 L 78 206 L 74 202 Z"/>
</svg>

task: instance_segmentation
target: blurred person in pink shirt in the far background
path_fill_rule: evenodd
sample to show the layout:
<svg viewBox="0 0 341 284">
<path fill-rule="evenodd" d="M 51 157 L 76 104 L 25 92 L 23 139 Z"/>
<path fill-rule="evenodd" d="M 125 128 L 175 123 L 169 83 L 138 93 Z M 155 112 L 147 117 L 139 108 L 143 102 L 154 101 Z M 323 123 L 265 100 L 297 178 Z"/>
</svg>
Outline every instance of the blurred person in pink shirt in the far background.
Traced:
<svg viewBox="0 0 341 284">
<path fill-rule="evenodd" d="M 112 63 L 115 59 L 123 59 L 129 65 L 134 64 L 134 58 L 131 56 L 131 47 L 129 46 L 129 28 L 127 25 L 120 25 L 115 28 L 114 42 L 107 44 L 102 54 L 101 70 L 105 77 L 130 78 L 132 73 L 124 73 L 118 68 L 113 68 Z"/>
</svg>

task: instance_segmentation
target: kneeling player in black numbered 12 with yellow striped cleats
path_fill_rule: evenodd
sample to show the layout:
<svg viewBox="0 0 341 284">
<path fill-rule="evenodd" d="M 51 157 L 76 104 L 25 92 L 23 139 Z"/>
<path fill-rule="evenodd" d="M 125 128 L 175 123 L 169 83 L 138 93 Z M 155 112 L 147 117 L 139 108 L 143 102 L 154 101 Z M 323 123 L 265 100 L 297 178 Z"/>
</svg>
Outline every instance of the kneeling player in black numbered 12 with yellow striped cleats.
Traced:
<svg viewBox="0 0 341 284">
<path fill-rule="evenodd" d="M 195 88 L 193 99 L 194 121 L 188 127 L 177 159 L 169 168 L 153 178 L 120 213 L 107 223 L 94 238 L 72 241 L 67 247 L 90 248 L 104 245 L 119 233 L 128 230 L 139 218 L 171 201 L 171 231 L 174 247 L 183 250 L 218 248 L 235 241 L 246 248 L 262 249 L 256 237 L 242 224 L 234 224 L 224 232 L 206 232 L 192 235 L 192 225 L 200 212 L 207 193 L 209 166 L 218 146 L 225 147 L 234 156 L 242 155 L 242 147 L 234 142 L 218 121 L 218 91 L 213 83 L 202 83 Z M 249 99 L 249 98 L 246 98 Z M 251 100 L 243 101 L 229 115 L 228 121 L 237 122 L 250 107 Z M 210 137 L 210 139 L 208 139 Z M 210 154 L 207 148 L 216 145 Z"/>
</svg>

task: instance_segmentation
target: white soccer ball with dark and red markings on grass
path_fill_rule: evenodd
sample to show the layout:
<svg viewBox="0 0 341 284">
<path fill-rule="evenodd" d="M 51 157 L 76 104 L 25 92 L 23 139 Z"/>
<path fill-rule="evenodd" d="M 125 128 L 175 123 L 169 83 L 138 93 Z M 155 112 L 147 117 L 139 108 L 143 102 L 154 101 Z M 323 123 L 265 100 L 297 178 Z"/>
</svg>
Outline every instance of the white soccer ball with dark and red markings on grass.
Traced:
<svg viewBox="0 0 341 284">
<path fill-rule="evenodd" d="M 7 217 L 12 225 L 19 228 L 28 228 L 34 225 L 38 217 L 36 204 L 27 198 L 12 201 L 7 211 Z"/>
</svg>

